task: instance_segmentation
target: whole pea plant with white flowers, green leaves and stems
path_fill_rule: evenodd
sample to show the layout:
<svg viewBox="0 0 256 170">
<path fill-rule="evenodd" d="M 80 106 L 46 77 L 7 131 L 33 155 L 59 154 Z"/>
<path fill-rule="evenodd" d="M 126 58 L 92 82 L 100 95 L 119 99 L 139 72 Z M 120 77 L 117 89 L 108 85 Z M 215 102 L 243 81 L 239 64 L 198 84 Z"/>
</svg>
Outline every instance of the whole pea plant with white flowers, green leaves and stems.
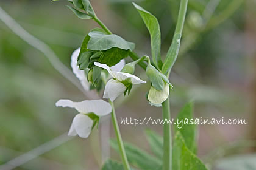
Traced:
<svg viewBox="0 0 256 170">
<path fill-rule="evenodd" d="M 57 101 L 56 106 L 72 107 L 79 112 L 73 119 L 68 135 L 88 138 L 92 129 L 98 127 L 100 118 L 111 113 L 116 140 L 111 140 L 110 143 L 119 152 L 122 163 L 108 160 L 102 169 L 207 169 L 196 155 L 196 126 L 183 126 L 182 129 L 175 127 L 174 139 L 172 139 L 170 123 L 163 124 L 163 137 L 153 131 L 146 131 L 154 153 L 151 155 L 137 146 L 123 142 L 113 103 L 118 100 L 119 95 L 132 93 L 133 86 L 149 81 L 151 87 L 148 89 L 145 100 L 148 100 L 151 106 L 162 107 L 163 120 L 171 119 L 169 95 L 174 87 L 169 82 L 169 75 L 179 54 L 188 0 L 180 1 L 176 29 L 171 46 L 163 61 L 160 54 L 160 25 L 157 18 L 143 7 L 133 3 L 150 33 L 151 57 L 138 56 L 133 51 L 135 49 L 134 43 L 112 33 L 98 18 L 90 1 L 69 0 L 69 2 L 67 7 L 78 18 L 92 19 L 101 26 L 101 28 L 94 28 L 88 32 L 80 48 L 71 56 L 73 72 L 79 78 L 84 90 L 101 92 L 104 89 L 103 98 L 107 99 L 108 102 L 104 100 Z M 124 59 L 127 57 L 132 58 L 133 61 L 126 64 Z M 137 65 L 144 69 L 148 80 L 141 80 L 133 75 Z M 192 110 L 193 103 L 186 104 L 178 118 L 192 118 Z"/>
</svg>

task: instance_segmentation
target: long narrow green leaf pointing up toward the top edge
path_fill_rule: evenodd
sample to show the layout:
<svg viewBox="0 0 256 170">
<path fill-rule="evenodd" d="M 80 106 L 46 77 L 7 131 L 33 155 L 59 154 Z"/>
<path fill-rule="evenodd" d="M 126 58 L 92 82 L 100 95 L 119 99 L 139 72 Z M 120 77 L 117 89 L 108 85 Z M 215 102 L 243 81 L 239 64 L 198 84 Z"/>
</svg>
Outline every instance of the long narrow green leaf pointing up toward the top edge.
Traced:
<svg viewBox="0 0 256 170">
<path fill-rule="evenodd" d="M 144 10 L 139 5 L 133 3 L 134 7 L 138 10 L 143 19 L 144 23 L 146 24 L 147 29 L 149 30 L 150 37 L 151 37 L 151 53 L 152 53 L 152 60 L 155 65 L 158 67 L 162 67 L 161 61 L 161 33 L 160 33 L 160 26 L 158 24 L 157 18 L 152 15 L 150 12 Z"/>
</svg>

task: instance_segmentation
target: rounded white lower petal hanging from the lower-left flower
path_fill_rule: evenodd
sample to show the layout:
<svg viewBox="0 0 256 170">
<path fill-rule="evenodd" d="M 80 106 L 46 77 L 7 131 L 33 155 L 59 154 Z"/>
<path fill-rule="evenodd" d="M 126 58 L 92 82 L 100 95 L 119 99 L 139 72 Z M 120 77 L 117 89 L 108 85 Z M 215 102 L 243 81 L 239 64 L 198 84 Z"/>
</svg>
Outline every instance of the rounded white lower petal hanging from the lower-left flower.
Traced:
<svg viewBox="0 0 256 170">
<path fill-rule="evenodd" d="M 77 114 L 71 124 L 68 135 L 79 135 L 81 138 L 87 138 L 91 133 L 93 127 L 93 120 L 84 114 Z"/>
</svg>

